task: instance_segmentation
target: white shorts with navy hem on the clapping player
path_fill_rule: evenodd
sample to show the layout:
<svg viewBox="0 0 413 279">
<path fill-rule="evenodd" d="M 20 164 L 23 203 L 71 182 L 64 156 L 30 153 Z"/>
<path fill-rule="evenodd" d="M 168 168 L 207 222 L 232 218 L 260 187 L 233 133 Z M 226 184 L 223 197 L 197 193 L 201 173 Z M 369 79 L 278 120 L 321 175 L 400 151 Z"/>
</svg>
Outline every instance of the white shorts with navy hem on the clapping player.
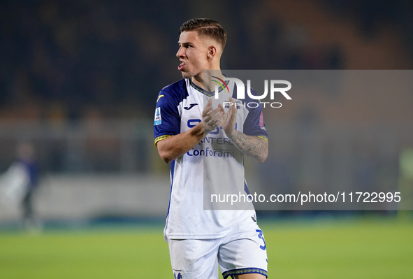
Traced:
<svg viewBox="0 0 413 279">
<path fill-rule="evenodd" d="M 259 273 L 267 276 L 267 250 L 258 225 L 215 239 L 169 239 L 175 279 L 218 279 Z M 231 277 L 232 278 L 232 277 Z"/>
</svg>

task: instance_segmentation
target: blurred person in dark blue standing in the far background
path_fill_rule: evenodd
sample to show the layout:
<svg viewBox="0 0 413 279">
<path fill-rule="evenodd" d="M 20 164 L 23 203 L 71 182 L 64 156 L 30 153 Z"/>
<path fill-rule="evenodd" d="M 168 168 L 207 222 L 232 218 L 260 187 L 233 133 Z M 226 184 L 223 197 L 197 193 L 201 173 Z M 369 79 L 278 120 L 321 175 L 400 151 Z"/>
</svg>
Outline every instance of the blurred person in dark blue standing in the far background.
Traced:
<svg viewBox="0 0 413 279">
<path fill-rule="evenodd" d="M 34 217 L 33 196 L 38 187 L 38 167 L 34 145 L 29 142 L 17 145 L 17 159 L 0 180 L 0 197 L 7 208 L 22 208 L 22 227 L 38 231 L 40 224 Z"/>
</svg>

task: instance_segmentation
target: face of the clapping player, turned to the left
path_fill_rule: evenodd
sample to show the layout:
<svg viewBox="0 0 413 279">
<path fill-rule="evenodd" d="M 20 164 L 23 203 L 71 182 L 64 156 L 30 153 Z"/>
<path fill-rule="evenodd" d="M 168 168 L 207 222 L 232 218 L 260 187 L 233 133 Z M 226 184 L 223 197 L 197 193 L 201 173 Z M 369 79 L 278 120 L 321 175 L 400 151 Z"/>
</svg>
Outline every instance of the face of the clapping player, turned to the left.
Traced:
<svg viewBox="0 0 413 279">
<path fill-rule="evenodd" d="M 180 59 L 177 67 L 184 78 L 192 78 L 203 73 L 208 64 L 208 45 L 196 31 L 183 31 L 178 41 L 180 48 L 176 57 Z"/>
</svg>

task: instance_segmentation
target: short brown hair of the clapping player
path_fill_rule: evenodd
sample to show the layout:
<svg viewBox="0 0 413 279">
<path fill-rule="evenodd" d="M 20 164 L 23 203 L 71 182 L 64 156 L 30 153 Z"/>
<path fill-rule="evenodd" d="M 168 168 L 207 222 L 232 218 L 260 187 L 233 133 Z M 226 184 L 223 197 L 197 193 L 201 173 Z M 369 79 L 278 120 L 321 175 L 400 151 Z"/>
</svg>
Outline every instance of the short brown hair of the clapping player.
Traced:
<svg viewBox="0 0 413 279">
<path fill-rule="evenodd" d="M 209 18 L 193 18 L 182 24 L 180 28 L 180 34 L 183 31 L 194 31 L 198 32 L 199 36 L 205 35 L 213 38 L 215 41 L 221 44 L 224 50 L 226 43 L 226 31 L 222 29 L 221 24 L 215 20 L 210 20 Z"/>
</svg>

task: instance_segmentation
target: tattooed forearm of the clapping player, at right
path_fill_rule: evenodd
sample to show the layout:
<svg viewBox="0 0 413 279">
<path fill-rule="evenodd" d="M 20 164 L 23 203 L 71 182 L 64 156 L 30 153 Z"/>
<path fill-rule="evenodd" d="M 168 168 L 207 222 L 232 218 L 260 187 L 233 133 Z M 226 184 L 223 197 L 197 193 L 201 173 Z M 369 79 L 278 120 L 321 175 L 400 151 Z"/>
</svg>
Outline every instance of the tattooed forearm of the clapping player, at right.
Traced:
<svg viewBox="0 0 413 279">
<path fill-rule="evenodd" d="M 266 156 L 267 148 L 263 143 L 262 138 L 256 136 L 247 136 L 242 134 L 240 131 L 235 131 L 235 133 L 229 137 L 231 143 L 236 145 L 236 147 L 245 155 L 259 160 L 261 157 Z"/>
</svg>

